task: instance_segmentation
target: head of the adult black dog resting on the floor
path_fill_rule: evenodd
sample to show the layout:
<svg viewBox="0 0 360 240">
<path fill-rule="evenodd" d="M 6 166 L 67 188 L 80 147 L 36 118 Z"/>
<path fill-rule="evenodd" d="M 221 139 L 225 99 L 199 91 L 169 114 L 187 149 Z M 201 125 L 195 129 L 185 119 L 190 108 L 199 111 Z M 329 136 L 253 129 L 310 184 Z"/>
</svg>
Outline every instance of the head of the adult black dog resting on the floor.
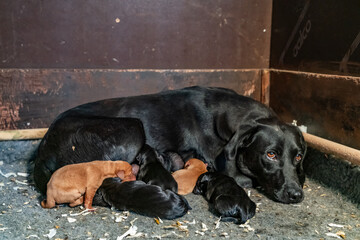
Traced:
<svg viewBox="0 0 360 240">
<path fill-rule="evenodd" d="M 296 126 L 277 119 L 254 121 L 237 130 L 224 153 L 227 161 L 235 161 L 240 172 L 255 179 L 274 200 L 303 200 L 306 143 Z"/>
</svg>

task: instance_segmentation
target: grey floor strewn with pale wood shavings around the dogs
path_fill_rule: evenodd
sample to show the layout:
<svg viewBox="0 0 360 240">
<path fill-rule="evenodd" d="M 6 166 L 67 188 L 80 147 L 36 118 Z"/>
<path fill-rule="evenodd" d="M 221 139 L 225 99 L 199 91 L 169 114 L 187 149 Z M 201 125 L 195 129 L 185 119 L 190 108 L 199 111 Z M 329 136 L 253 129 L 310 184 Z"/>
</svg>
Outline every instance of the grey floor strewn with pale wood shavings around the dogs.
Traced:
<svg viewBox="0 0 360 240">
<path fill-rule="evenodd" d="M 184 217 L 162 220 L 98 207 L 42 209 L 31 180 L 39 141 L 0 142 L 0 239 L 360 239 L 360 208 L 340 193 L 307 178 L 305 200 L 286 205 L 247 189 L 258 205 L 247 224 L 218 223 L 199 195 L 186 196 L 193 208 Z M 218 224 L 217 224 L 218 223 Z M 337 234 L 337 235 L 336 235 Z"/>
</svg>

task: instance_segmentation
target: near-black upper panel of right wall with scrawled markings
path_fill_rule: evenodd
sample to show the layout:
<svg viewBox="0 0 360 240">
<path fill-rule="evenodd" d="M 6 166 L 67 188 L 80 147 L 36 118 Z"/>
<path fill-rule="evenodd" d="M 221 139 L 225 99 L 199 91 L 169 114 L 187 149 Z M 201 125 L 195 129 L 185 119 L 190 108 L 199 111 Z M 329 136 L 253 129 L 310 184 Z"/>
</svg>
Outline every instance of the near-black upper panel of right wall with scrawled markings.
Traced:
<svg viewBox="0 0 360 240">
<path fill-rule="evenodd" d="M 273 4 L 272 68 L 360 76 L 360 1 Z"/>
</svg>

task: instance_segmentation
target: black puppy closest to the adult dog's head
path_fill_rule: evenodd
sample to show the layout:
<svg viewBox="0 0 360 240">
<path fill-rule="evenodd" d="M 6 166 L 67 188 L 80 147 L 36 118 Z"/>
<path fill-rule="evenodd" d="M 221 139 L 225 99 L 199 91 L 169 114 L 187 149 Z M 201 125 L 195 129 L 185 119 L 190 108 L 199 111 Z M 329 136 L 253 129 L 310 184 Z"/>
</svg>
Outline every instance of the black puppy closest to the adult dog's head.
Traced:
<svg viewBox="0 0 360 240">
<path fill-rule="evenodd" d="M 203 173 L 193 192 L 202 194 L 224 222 L 242 224 L 255 215 L 255 203 L 232 177 L 216 172 Z"/>
</svg>

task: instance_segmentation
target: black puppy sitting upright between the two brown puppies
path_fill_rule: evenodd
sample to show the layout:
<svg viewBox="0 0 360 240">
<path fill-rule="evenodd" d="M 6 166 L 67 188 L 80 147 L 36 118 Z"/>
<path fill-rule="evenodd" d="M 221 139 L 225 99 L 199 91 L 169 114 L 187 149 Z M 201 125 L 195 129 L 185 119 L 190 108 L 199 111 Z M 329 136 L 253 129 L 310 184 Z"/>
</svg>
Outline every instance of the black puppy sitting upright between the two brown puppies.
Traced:
<svg viewBox="0 0 360 240">
<path fill-rule="evenodd" d="M 177 192 L 177 182 L 169 171 L 165 169 L 162 164 L 163 160 L 159 160 L 160 158 L 162 157 L 153 148 L 145 144 L 136 156 L 136 160 L 140 165 L 137 179 L 148 184 L 160 186 L 163 190 L 169 189 Z"/>
</svg>

